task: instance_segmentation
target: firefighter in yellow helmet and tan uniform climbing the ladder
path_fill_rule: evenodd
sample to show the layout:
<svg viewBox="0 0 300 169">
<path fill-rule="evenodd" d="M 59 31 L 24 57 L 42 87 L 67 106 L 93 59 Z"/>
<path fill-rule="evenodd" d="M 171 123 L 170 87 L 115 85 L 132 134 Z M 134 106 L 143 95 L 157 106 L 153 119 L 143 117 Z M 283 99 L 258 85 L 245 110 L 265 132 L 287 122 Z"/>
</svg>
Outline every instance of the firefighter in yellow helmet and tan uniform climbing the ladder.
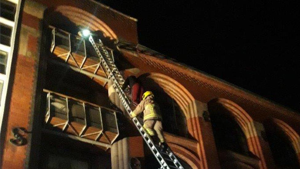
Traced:
<svg viewBox="0 0 300 169">
<path fill-rule="evenodd" d="M 154 95 L 151 91 L 146 91 L 143 94 L 143 100 L 137 105 L 136 109 L 130 113 L 131 118 L 136 117 L 144 112 L 144 129 L 154 139 L 155 133 L 160 139 L 160 146 L 163 150 L 167 149 L 163 135 L 162 117 L 158 104 L 154 101 Z"/>
</svg>

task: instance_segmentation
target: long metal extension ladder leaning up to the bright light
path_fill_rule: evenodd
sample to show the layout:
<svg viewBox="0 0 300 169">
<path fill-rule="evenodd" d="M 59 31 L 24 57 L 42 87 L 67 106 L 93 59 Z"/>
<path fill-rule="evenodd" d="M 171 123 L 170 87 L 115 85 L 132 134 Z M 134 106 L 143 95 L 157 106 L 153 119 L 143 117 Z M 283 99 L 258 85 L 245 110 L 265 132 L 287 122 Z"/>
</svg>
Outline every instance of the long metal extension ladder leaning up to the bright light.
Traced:
<svg viewBox="0 0 300 169">
<path fill-rule="evenodd" d="M 121 85 L 124 84 L 124 78 L 121 75 L 120 71 L 116 67 L 113 58 L 109 55 L 107 50 L 105 49 L 104 44 L 102 43 L 101 39 L 99 39 L 99 43 L 96 44 L 92 35 L 89 35 L 89 41 L 91 42 L 92 46 L 94 47 L 97 55 L 100 58 L 101 64 L 105 71 L 108 73 L 108 78 L 113 81 L 113 88 L 115 89 L 116 93 L 118 94 L 125 110 L 127 111 L 128 115 L 132 111 L 129 107 L 130 101 L 128 100 L 127 96 L 125 95 L 124 91 L 122 90 Z M 132 119 L 133 123 L 135 124 L 136 128 L 142 135 L 144 141 L 152 151 L 153 155 L 160 163 L 161 169 L 171 169 L 171 168 L 184 168 L 168 147 L 166 151 L 163 151 L 159 146 L 153 143 L 152 139 L 148 135 L 148 133 L 144 130 L 142 124 L 139 120 L 135 117 Z"/>
</svg>

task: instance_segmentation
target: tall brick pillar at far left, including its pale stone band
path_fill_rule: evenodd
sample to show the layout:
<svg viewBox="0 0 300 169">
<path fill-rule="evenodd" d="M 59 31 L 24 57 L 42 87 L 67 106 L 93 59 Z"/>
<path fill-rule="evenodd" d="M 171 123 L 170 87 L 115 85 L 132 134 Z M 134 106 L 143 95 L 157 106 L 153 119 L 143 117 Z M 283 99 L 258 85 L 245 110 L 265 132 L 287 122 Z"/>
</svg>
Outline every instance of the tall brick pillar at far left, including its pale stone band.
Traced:
<svg viewBox="0 0 300 169">
<path fill-rule="evenodd" d="M 32 100 L 34 99 L 36 69 L 38 62 L 38 38 L 40 19 L 22 13 L 22 24 L 20 30 L 18 56 L 11 91 L 10 107 L 6 126 L 6 138 L 3 148 L 3 159 L 1 168 L 24 168 L 26 151 L 30 143 L 24 146 L 14 146 L 10 139 L 14 139 L 11 131 L 14 127 L 30 128 L 30 114 L 33 109 Z M 24 137 L 28 139 L 29 134 Z M 28 140 L 27 140 L 28 141 Z"/>
</svg>

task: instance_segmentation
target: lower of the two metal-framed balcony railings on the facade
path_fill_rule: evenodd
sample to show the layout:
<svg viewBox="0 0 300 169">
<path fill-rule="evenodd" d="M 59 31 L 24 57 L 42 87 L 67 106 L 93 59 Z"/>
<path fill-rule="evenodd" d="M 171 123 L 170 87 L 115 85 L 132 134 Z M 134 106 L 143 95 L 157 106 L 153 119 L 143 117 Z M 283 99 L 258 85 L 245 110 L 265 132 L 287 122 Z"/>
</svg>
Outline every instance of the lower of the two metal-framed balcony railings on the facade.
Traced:
<svg viewBox="0 0 300 169">
<path fill-rule="evenodd" d="M 119 135 L 116 111 L 48 91 L 47 127 L 71 135 L 112 144 Z"/>
</svg>

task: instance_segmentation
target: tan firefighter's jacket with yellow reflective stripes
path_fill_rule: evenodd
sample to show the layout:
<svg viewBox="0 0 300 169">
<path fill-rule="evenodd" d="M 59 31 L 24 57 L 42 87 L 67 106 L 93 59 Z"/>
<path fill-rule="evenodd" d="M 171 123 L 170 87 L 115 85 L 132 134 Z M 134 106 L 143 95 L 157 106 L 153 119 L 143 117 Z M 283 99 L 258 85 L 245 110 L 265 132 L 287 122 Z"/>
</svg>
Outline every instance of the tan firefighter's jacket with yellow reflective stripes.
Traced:
<svg viewBox="0 0 300 169">
<path fill-rule="evenodd" d="M 136 117 L 144 112 L 144 121 L 146 120 L 162 120 L 160 107 L 153 100 L 152 96 L 148 96 L 137 105 L 136 109 L 131 113 L 132 117 Z"/>
</svg>

